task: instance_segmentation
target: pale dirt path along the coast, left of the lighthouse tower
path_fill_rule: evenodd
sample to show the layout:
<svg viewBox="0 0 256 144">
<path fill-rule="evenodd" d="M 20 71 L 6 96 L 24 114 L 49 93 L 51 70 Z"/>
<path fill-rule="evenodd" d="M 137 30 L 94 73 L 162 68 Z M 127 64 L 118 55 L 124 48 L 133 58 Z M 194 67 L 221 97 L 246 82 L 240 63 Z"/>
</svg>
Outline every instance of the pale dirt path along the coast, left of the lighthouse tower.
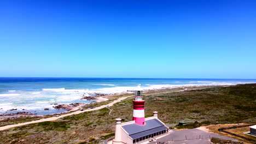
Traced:
<svg viewBox="0 0 256 144">
<path fill-rule="evenodd" d="M 127 96 L 127 97 L 119 98 L 119 99 L 117 99 L 117 100 L 112 101 L 112 103 L 109 103 L 109 104 L 107 104 L 107 105 L 102 105 L 102 106 L 96 107 L 95 109 L 89 109 L 89 110 L 84 110 L 84 111 L 75 111 L 75 112 L 72 112 L 72 113 L 68 113 L 68 114 L 65 114 L 65 115 L 61 115 L 61 116 L 59 116 L 59 117 L 43 118 L 43 119 L 39 119 L 39 120 L 36 120 L 36 121 L 31 121 L 31 122 L 25 122 L 25 123 L 18 123 L 18 124 L 5 125 L 5 126 L 3 126 L 3 127 L 0 127 L 0 130 L 5 130 L 5 129 L 9 129 L 9 128 L 14 128 L 14 127 L 19 127 L 19 126 L 22 126 L 22 125 L 27 125 L 27 124 L 32 124 L 32 123 L 40 123 L 40 122 L 46 122 L 46 121 L 55 121 L 56 119 L 59 119 L 59 118 L 62 118 L 62 117 L 71 116 L 71 115 L 77 115 L 77 114 L 79 114 L 79 113 L 83 113 L 83 112 L 86 112 L 86 111 L 100 110 L 100 109 L 103 109 L 104 107 L 107 107 L 107 106 L 113 106 L 115 103 L 118 103 L 118 102 L 120 102 L 121 100 L 124 100 L 124 99 L 129 98 L 129 97 L 133 97 L 133 95 Z"/>
</svg>

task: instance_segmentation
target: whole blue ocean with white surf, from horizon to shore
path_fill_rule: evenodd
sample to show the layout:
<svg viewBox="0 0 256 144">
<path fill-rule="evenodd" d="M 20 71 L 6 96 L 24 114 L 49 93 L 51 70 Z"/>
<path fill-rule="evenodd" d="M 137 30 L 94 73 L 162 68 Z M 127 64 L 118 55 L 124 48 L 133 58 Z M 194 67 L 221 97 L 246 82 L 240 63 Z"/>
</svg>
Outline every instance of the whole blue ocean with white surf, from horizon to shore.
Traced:
<svg viewBox="0 0 256 144">
<path fill-rule="evenodd" d="M 22 109 L 36 115 L 60 113 L 65 110 L 56 110 L 52 104 L 91 103 L 95 100 L 82 100 L 83 95 L 127 92 L 138 85 L 143 89 L 158 89 L 243 83 L 256 83 L 256 80 L 0 77 L 0 115 L 22 112 Z M 8 111 L 10 109 L 18 110 Z"/>
</svg>

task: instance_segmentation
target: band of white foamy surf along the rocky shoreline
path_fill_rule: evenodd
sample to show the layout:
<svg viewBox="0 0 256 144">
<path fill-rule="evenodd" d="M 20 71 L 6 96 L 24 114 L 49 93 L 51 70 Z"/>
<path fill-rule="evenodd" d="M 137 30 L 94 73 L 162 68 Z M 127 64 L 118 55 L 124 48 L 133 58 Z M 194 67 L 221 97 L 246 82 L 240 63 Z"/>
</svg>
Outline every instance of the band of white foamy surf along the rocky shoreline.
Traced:
<svg viewBox="0 0 256 144">
<path fill-rule="evenodd" d="M 184 85 L 178 85 L 179 81 L 176 83 L 166 84 L 166 85 L 153 85 L 153 84 L 143 84 L 143 90 L 149 89 L 161 89 L 161 88 L 177 88 L 177 87 L 193 87 L 193 86 L 222 86 L 222 85 L 236 85 L 242 83 L 253 83 L 253 82 L 233 82 L 233 81 L 190 81 Z M 94 84 L 97 85 L 97 84 Z M 57 104 L 70 104 L 75 102 L 81 102 L 80 100 L 83 95 L 90 96 L 95 95 L 95 93 L 103 94 L 115 94 L 115 93 L 132 93 L 137 89 L 136 83 L 133 86 L 117 86 L 112 84 L 98 84 L 102 86 L 111 86 L 104 88 L 95 89 L 65 89 L 65 88 L 43 88 L 42 91 L 9 91 L 7 94 L 0 94 L 2 97 L 0 111 L 10 110 L 10 109 L 26 109 L 26 110 L 43 110 L 43 108 L 53 109 L 53 103 Z M 19 92 L 19 93 L 17 93 Z M 83 100 L 84 103 L 90 103 L 90 101 Z"/>
</svg>

